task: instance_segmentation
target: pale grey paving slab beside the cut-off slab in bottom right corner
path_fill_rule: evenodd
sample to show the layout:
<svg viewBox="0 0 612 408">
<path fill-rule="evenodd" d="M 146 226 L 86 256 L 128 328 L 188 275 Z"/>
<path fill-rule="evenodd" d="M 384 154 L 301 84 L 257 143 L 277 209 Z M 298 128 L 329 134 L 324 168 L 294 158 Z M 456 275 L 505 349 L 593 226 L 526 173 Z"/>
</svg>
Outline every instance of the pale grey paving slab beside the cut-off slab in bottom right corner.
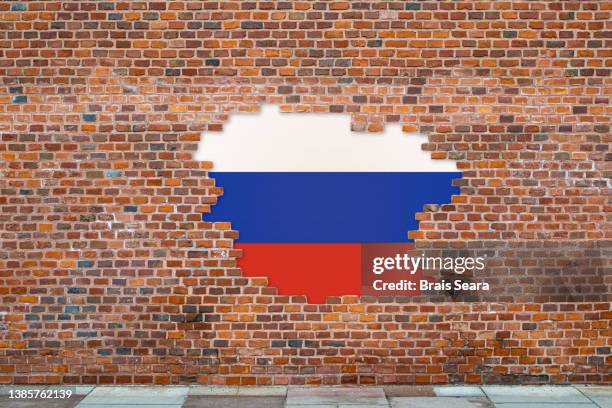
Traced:
<svg viewBox="0 0 612 408">
<path fill-rule="evenodd" d="M 589 399 L 573 387 L 562 386 L 483 386 L 482 390 L 496 405 L 502 403 L 589 403 Z"/>
</svg>

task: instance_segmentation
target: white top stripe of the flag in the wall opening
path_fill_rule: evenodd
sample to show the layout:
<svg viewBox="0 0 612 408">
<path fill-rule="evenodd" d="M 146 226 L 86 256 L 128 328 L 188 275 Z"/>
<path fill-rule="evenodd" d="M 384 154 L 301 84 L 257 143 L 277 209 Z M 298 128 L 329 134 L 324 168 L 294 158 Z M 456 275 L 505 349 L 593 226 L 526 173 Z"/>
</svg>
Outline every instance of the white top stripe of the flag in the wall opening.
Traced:
<svg viewBox="0 0 612 408">
<path fill-rule="evenodd" d="M 353 132 L 350 116 L 281 113 L 235 114 L 223 132 L 204 132 L 196 160 L 215 172 L 456 172 L 452 160 L 432 160 L 421 149 L 426 136 L 386 124 L 381 133 Z"/>
</svg>

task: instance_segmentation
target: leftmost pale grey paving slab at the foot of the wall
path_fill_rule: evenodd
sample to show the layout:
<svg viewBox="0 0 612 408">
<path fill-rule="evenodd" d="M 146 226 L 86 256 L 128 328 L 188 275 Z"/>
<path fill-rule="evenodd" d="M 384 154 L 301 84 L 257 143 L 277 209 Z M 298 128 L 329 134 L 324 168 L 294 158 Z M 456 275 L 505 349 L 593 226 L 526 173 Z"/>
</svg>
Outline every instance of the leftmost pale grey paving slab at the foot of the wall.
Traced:
<svg viewBox="0 0 612 408">
<path fill-rule="evenodd" d="M 178 405 L 187 398 L 189 387 L 125 386 L 96 387 L 81 405 Z"/>
</svg>

